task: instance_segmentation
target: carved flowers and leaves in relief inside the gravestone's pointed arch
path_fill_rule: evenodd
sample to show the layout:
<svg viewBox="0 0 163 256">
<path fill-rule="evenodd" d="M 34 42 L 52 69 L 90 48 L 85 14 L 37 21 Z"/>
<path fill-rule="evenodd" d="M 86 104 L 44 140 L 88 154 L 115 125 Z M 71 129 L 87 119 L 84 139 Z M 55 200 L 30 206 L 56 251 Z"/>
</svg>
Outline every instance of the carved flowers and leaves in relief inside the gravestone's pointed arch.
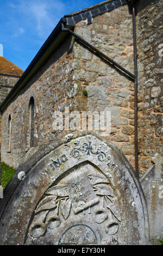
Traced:
<svg viewBox="0 0 163 256">
<path fill-rule="evenodd" d="M 32 237 L 43 236 L 47 228 L 59 227 L 60 217 L 66 221 L 71 209 L 74 215 L 88 209 L 95 223 L 106 221 L 105 231 L 108 235 L 118 231 L 121 217 L 113 204 L 114 193 L 109 180 L 102 173 L 87 175 L 78 171 L 73 178 L 67 176 L 64 183 L 49 188 L 37 206 L 29 229 Z M 117 221 L 113 220 L 112 215 Z"/>
</svg>

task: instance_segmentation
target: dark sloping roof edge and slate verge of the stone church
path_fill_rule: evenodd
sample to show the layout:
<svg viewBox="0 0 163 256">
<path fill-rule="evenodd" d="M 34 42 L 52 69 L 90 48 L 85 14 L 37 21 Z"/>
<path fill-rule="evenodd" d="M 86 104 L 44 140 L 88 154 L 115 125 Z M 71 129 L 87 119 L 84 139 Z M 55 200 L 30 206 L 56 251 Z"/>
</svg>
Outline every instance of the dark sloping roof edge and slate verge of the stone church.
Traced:
<svg viewBox="0 0 163 256">
<path fill-rule="evenodd" d="M 48 39 L 40 48 L 39 52 L 36 54 L 32 62 L 29 64 L 26 71 L 24 71 L 23 75 L 17 81 L 15 86 L 12 88 L 10 93 L 7 95 L 5 100 L 2 102 L 0 106 L 0 111 L 3 111 L 4 108 L 8 105 L 8 103 L 16 96 L 18 92 L 22 89 L 23 86 L 27 84 L 27 82 L 32 78 L 32 76 L 39 70 L 40 66 L 45 63 L 45 60 L 50 56 L 50 53 L 54 51 L 54 49 L 59 45 L 57 42 L 57 46 L 55 41 L 64 40 L 66 37 L 65 32 L 62 33 L 61 23 L 65 23 L 65 25 L 69 28 L 73 28 L 77 22 L 83 21 L 87 19 L 87 24 L 92 22 L 92 17 L 95 17 L 99 14 L 105 13 L 106 11 L 114 10 L 122 5 L 128 4 L 128 0 L 115 0 L 115 1 L 105 1 L 87 9 L 83 9 L 78 11 L 77 13 L 68 14 L 61 18 L 58 25 L 54 28 L 51 35 L 49 35 Z"/>
</svg>

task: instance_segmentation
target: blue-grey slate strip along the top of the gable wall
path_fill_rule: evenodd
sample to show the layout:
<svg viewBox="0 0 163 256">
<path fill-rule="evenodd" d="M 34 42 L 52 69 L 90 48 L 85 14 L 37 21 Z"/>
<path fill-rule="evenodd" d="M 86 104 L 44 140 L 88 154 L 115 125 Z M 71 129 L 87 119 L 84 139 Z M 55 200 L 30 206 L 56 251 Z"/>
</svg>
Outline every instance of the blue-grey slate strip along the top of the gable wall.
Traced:
<svg viewBox="0 0 163 256">
<path fill-rule="evenodd" d="M 65 15 L 66 25 L 76 25 L 77 22 L 86 20 L 89 25 L 92 22 L 92 17 L 96 15 L 103 14 L 106 11 L 112 11 L 122 5 L 127 4 L 127 0 L 115 0 L 115 1 L 105 1 L 96 5 L 92 5 L 89 8 L 77 11 L 76 13 Z"/>
</svg>

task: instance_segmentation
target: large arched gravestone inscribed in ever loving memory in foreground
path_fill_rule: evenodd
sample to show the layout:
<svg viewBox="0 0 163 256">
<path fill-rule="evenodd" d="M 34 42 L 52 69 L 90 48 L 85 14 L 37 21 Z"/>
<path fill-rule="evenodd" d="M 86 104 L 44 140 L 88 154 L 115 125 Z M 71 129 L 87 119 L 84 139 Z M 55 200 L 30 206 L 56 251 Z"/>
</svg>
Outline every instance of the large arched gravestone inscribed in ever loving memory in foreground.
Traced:
<svg viewBox="0 0 163 256">
<path fill-rule="evenodd" d="M 0 201 L 2 245 L 146 245 L 149 222 L 126 157 L 95 133 L 59 138 L 24 163 Z"/>
</svg>

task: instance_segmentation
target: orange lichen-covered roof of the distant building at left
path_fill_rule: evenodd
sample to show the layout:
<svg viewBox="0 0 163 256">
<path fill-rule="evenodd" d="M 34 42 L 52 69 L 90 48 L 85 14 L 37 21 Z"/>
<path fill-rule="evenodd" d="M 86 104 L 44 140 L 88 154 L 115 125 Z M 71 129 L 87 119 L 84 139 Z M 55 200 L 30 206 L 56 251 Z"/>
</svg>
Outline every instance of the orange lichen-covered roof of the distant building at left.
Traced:
<svg viewBox="0 0 163 256">
<path fill-rule="evenodd" d="M 18 66 L 9 62 L 9 60 L 0 56 L 0 74 L 12 75 L 12 76 L 21 76 L 23 74 L 23 70 L 18 68 Z"/>
</svg>

